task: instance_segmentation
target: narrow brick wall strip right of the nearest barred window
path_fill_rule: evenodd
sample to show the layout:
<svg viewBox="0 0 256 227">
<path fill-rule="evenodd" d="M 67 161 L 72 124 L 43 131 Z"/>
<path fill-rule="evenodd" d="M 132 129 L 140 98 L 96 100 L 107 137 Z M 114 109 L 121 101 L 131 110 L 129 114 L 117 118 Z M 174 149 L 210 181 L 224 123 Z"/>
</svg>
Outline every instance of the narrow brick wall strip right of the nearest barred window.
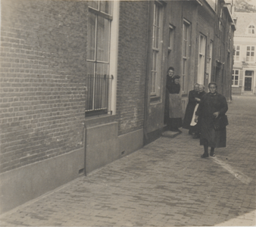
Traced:
<svg viewBox="0 0 256 227">
<path fill-rule="evenodd" d="M 117 68 L 119 134 L 142 129 L 148 41 L 148 2 L 120 1 Z"/>
</svg>

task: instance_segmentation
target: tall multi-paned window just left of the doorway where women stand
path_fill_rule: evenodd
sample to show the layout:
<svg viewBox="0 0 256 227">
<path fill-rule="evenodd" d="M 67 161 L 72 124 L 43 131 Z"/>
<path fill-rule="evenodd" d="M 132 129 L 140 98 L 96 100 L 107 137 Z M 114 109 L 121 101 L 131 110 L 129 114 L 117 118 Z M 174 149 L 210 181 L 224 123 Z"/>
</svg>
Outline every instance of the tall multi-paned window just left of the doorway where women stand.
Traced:
<svg viewBox="0 0 256 227">
<path fill-rule="evenodd" d="M 161 62 L 163 38 L 163 6 L 159 2 L 154 5 L 153 39 L 152 39 L 152 68 L 151 68 L 151 95 L 159 96 L 161 88 Z"/>
</svg>

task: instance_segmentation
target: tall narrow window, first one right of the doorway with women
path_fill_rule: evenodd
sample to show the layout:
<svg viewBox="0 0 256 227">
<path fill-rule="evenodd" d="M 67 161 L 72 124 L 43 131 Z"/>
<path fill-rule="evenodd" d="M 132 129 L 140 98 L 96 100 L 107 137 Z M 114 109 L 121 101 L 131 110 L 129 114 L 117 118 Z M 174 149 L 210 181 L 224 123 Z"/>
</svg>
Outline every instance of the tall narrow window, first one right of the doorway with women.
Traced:
<svg viewBox="0 0 256 227">
<path fill-rule="evenodd" d="M 182 69 L 182 91 L 186 92 L 186 79 L 189 73 L 189 44 L 190 23 L 183 20 L 183 69 Z"/>
</svg>

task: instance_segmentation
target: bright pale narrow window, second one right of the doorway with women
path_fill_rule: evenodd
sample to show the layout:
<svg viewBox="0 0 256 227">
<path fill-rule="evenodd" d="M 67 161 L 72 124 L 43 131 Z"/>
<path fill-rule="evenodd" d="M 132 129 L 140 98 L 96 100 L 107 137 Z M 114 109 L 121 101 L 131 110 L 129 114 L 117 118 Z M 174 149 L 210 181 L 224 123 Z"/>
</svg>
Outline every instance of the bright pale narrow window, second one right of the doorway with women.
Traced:
<svg viewBox="0 0 256 227">
<path fill-rule="evenodd" d="M 205 69 L 205 45 L 206 37 L 199 36 L 199 56 L 198 56 L 198 83 L 204 84 L 204 69 Z"/>
</svg>

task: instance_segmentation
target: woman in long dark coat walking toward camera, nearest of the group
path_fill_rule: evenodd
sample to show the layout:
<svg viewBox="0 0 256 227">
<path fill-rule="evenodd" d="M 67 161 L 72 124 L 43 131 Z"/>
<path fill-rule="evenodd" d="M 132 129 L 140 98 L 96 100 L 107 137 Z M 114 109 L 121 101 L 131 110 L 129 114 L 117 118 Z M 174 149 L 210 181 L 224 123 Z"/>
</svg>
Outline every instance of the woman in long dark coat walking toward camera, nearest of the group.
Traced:
<svg viewBox="0 0 256 227">
<path fill-rule="evenodd" d="M 200 145 L 204 145 L 204 154 L 201 157 L 209 157 L 208 147 L 211 147 L 210 156 L 214 157 L 214 148 L 226 147 L 226 126 L 214 129 L 217 117 L 225 115 L 228 110 L 226 98 L 217 93 L 217 84 L 210 82 L 209 93 L 205 94 L 200 101 L 196 111 L 195 122 L 201 117 Z"/>
</svg>

